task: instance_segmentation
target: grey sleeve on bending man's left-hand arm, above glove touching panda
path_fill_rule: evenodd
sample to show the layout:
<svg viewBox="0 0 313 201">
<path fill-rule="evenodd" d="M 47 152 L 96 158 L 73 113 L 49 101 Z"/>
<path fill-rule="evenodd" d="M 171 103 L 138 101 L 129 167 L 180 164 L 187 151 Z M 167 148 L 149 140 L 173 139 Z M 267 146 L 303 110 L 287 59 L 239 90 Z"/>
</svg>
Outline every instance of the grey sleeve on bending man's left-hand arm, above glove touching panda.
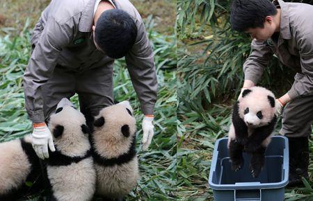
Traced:
<svg viewBox="0 0 313 201">
<path fill-rule="evenodd" d="M 70 42 L 65 28 L 50 17 L 35 44 L 29 64 L 24 72 L 25 107 L 33 123 L 45 121 L 43 113 L 42 85 L 52 76 L 58 55 Z"/>
</svg>

